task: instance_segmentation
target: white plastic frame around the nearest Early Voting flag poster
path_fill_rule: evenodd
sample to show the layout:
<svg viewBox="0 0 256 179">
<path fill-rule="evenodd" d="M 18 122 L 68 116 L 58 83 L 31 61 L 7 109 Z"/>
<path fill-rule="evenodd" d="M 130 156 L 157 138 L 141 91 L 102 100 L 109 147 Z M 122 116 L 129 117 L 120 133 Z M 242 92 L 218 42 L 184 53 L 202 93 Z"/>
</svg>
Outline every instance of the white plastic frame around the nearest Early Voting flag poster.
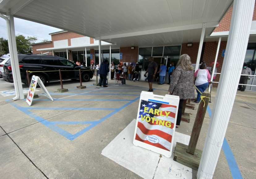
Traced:
<svg viewBox="0 0 256 179">
<path fill-rule="evenodd" d="M 138 129 L 138 121 L 140 120 L 139 119 L 139 112 L 140 112 L 139 110 L 140 110 L 140 106 L 141 106 L 141 100 L 145 100 L 145 101 L 154 100 L 154 101 L 158 101 L 157 103 L 161 103 L 161 102 L 162 102 L 162 104 L 169 103 L 169 105 L 177 106 L 176 107 L 176 113 L 175 113 L 174 126 L 173 126 L 173 129 L 172 129 L 173 134 L 172 134 L 171 146 L 169 146 L 169 149 L 170 149 L 169 151 L 135 139 L 136 134 L 137 134 L 137 129 Z M 134 131 L 133 144 L 135 146 L 143 147 L 143 148 L 151 150 L 153 152 L 162 154 L 165 157 L 168 157 L 168 158 L 171 157 L 172 156 L 173 141 L 174 141 L 173 139 L 174 139 L 175 128 L 176 128 L 179 101 L 180 101 L 179 96 L 174 96 L 174 95 L 169 95 L 169 94 L 166 94 L 165 96 L 160 96 L 160 95 L 155 95 L 152 92 L 142 91 L 141 95 L 140 95 L 140 100 L 139 100 L 139 107 L 138 107 L 138 114 L 137 114 L 136 126 L 135 126 L 135 131 Z M 148 136 L 152 136 L 152 135 L 147 135 L 146 138 Z M 149 141 L 149 140 L 147 139 L 147 141 Z"/>
</svg>

